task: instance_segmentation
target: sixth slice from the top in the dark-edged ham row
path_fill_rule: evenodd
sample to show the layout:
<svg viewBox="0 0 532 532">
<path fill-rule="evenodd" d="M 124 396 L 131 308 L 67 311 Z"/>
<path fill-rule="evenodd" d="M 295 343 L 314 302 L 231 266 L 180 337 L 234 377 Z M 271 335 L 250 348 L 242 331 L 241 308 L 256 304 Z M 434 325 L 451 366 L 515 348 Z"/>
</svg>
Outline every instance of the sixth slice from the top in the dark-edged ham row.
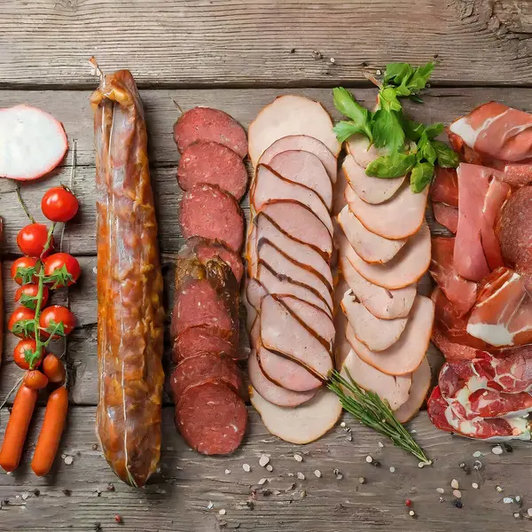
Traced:
<svg viewBox="0 0 532 532">
<path fill-rule="evenodd" d="M 319 275 L 325 278 L 327 285 L 332 290 L 331 267 L 325 262 L 324 257 L 319 254 L 314 247 L 301 244 L 297 240 L 289 237 L 279 229 L 279 226 L 263 211 L 258 213 L 253 220 L 251 232 L 247 239 L 247 260 L 248 272 L 251 277 L 256 272 L 257 254 L 256 244 L 261 239 L 268 239 L 273 242 L 278 249 L 289 255 L 294 261 L 307 264 L 312 270 L 316 270 Z"/>
</svg>

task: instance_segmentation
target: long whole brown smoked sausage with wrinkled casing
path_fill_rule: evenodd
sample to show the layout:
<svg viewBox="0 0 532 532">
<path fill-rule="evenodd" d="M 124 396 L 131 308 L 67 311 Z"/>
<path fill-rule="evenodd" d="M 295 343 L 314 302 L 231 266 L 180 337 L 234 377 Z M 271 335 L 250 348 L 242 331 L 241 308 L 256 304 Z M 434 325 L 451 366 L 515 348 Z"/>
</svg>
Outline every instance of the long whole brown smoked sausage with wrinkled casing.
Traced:
<svg viewBox="0 0 532 532">
<path fill-rule="evenodd" d="M 122 481 L 143 486 L 160 458 L 162 276 L 142 101 L 133 76 L 92 94 L 98 214 L 97 434 Z"/>
</svg>

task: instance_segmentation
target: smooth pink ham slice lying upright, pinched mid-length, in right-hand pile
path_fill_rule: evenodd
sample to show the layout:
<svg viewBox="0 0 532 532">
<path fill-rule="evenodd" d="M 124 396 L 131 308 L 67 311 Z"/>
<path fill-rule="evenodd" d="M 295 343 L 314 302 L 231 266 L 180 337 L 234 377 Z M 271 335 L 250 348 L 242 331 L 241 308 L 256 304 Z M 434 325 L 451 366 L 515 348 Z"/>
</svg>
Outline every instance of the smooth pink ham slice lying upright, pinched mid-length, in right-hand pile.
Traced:
<svg viewBox="0 0 532 532">
<path fill-rule="evenodd" d="M 465 163 L 458 167 L 458 184 L 455 269 L 463 278 L 480 281 L 503 265 L 494 225 L 510 187 L 491 168 Z"/>
</svg>

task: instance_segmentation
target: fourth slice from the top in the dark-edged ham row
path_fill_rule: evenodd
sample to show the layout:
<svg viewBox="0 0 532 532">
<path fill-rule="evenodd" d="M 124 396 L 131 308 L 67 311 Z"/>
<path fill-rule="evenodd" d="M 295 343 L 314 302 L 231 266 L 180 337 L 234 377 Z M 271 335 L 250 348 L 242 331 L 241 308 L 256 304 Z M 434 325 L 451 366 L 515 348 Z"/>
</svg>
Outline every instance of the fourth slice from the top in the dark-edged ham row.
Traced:
<svg viewBox="0 0 532 532">
<path fill-rule="evenodd" d="M 250 202 L 255 211 L 260 211 L 262 206 L 270 200 L 294 200 L 309 207 L 317 218 L 325 225 L 332 235 L 332 220 L 325 203 L 312 189 L 302 184 L 288 181 L 271 168 L 260 164 L 251 186 Z"/>
</svg>

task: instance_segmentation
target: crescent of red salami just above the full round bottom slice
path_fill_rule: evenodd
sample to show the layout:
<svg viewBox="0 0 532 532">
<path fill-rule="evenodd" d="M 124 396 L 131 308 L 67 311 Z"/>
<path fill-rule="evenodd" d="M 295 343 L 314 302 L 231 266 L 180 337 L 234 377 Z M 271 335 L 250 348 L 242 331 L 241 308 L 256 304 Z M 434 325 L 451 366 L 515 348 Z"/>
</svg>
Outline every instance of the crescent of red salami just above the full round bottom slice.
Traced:
<svg viewBox="0 0 532 532">
<path fill-rule="evenodd" d="M 176 403 L 188 387 L 219 380 L 243 398 L 246 390 L 239 366 L 228 356 L 205 354 L 191 356 L 179 363 L 172 373 L 170 385 Z"/>
</svg>

